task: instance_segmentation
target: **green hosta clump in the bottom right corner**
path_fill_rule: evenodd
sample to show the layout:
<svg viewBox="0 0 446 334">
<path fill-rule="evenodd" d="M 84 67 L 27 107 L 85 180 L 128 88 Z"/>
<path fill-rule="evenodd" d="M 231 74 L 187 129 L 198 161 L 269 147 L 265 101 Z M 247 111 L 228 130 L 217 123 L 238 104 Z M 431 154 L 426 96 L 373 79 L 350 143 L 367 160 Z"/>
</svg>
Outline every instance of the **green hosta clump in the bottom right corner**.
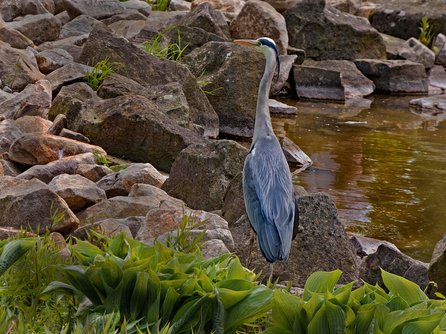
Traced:
<svg viewBox="0 0 446 334">
<path fill-rule="evenodd" d="M 352 291 L 353 282 L 334 290 L 339 270 L 313 273 L 302 298 L 276 289 L 274 326 L 264 334 L 446 334 L 444 299 L 428 299 L 415 283 L 381 272 L 389 293 L 367 283 Z"/>
</svg>

